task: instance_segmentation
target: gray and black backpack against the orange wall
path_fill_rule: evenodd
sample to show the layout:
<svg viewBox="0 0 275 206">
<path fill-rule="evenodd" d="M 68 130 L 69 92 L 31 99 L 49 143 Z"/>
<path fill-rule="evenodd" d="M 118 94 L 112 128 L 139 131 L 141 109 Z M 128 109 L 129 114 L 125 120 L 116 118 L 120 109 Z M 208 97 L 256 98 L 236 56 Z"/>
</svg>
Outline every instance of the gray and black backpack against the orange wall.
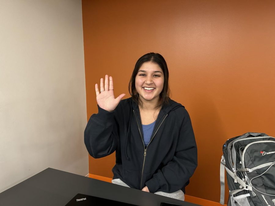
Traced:
<svg viewBox="0 0 275 206">
<path fill-rule="evenodd" d="M 225 169 L 228 206 L 275 205 L 274 137 L 248 132 L 224 143 L 220 164 L 221 204 L 224 204 Z"/>
</svg>

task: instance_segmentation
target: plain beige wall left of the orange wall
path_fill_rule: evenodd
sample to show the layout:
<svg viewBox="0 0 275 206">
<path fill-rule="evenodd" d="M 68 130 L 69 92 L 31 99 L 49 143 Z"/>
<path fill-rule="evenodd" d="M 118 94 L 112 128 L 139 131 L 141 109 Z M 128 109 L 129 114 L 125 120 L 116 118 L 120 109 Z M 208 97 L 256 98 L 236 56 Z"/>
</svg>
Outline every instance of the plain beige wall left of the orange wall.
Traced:
<svg viewBox="0 0 275 206">
<path fill-rule="evenodd" d="M 88 174 L 80 0 L 0 2 L 0 192 L 48 168 Z"/>
</svg>

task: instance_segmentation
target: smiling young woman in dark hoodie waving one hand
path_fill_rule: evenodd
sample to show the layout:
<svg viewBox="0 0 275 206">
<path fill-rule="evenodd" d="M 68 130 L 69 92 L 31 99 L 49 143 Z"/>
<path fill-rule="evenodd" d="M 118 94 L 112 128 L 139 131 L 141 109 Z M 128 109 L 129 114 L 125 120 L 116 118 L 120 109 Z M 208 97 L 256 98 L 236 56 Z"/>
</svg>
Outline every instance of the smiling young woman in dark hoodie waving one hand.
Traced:
<svg viewBox="0 0 275 206">
<path fill-rule="evenodd" d="M 135 65 L 130 98 L 115 98 L 112 77 L 101 78 L 84 141 L 94 158 L 116 151 L 112 183 L 184 200 L 197 148 L 188 112 L 169 98 L 168 77 L 163 56 L 148 53 Z"/>
</svg>

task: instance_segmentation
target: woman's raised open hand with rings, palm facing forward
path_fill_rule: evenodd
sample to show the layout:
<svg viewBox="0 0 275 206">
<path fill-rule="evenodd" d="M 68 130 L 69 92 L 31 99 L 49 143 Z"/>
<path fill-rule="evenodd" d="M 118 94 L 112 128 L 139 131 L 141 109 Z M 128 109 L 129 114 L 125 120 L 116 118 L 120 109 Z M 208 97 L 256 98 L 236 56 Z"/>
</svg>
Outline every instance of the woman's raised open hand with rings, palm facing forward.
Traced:
<svg viewBox="0 0 275 206">
<path fill-rule="evenodd" d="M 110 81 L 108 75 L 105 75 L 105 85 L 103 85 L 103 78 L 100 79 L 100 91 L 98 90 L 98 85 L 95 85 L 97 104 L 102 109 L 109 112 L 116 109 L 120 100 L 125 96 L 125 94 L 119 95 L 117 98 L 114 96 L 114 84 L 113 78 L 110 76 Z"/>
</svg>

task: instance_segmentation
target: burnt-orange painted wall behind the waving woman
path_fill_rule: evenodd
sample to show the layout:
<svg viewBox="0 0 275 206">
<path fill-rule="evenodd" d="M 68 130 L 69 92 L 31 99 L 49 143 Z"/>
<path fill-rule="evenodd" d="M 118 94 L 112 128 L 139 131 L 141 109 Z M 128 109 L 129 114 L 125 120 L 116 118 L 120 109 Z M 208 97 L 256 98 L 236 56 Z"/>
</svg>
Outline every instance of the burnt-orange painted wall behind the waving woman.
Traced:
<svg viewBox="0 0 275 206">
<path fill-rule="evenodd" d="M 171 98 L 185 105 L 198 146 L 187 195 L 219 201 L 226 139 L 275 136 L 274 1 L 82 1 L 87 117 L 97 113 L 94 84 L 105 74 L 126 93 L 134 64 L 159 52 Z M 112 177 L 114 154 L 89 158 L 89 172 Z M 228 191 L 226 193 L 228 195 Z"/>
</svg>

